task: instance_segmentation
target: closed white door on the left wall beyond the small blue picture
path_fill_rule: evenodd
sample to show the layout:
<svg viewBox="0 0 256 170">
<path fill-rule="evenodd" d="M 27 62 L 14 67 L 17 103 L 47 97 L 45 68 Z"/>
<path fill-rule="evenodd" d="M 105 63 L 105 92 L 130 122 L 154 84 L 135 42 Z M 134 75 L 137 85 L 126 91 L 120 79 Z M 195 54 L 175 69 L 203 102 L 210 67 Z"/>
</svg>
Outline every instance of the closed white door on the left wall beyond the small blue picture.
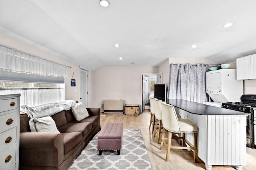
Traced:
<svg viewBox="0 0 256 170">
<path fill-rule="evenodd" d="M 88 77 L 89 77 L 89 71 L 85 70 L 83 68 L 80 68 L 80 100 L 79 102 L 82 102 L 85 107 L 88 107 Z"/>
</svg>

